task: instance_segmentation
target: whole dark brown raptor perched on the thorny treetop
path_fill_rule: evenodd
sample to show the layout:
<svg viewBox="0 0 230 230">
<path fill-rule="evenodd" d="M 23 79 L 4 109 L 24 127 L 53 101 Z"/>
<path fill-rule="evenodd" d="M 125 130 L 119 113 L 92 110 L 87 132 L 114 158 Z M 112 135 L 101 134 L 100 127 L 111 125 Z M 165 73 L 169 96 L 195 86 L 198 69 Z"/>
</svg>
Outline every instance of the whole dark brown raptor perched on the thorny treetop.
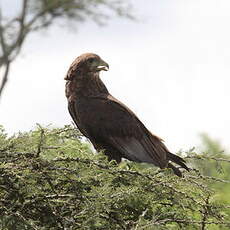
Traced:
<svg viewBox="0 0 230 230">
<path fill-rule="evenodd" d="M 189 170 L 185 161 L 170 153 L 128 107 L 109 94 L 99 77 L 99 72 L 108 68 L 98 55 L 86 53 L 76 58 L 68 70 L 68 109 L 79 130 L 96 150 L 105 150 L 109 160 L 147 162 L 171 168 L 182 176 L 170 161 Z"/>
</svg>

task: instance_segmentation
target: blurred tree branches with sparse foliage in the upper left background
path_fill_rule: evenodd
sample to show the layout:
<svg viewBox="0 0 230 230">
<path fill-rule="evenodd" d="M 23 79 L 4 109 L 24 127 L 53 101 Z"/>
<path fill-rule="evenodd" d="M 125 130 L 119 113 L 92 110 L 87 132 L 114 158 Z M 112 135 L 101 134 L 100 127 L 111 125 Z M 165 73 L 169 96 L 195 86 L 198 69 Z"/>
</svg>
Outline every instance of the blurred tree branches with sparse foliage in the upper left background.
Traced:
<svg viewBox="0 0 230 230">
<path fill-rule="evenodd" d="M 0 8 L 0 97 L 10 66 L 32 32 L 48 29 L 59 20 L 78 23 L 93 19 L 101 24 L 111 13 L 132 18 L 130 5 L 121 0 L 19 0 L 15 5 L 19 9 L 10 17 Z"/>
</svg>

